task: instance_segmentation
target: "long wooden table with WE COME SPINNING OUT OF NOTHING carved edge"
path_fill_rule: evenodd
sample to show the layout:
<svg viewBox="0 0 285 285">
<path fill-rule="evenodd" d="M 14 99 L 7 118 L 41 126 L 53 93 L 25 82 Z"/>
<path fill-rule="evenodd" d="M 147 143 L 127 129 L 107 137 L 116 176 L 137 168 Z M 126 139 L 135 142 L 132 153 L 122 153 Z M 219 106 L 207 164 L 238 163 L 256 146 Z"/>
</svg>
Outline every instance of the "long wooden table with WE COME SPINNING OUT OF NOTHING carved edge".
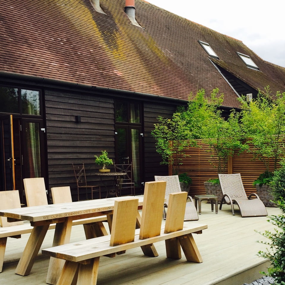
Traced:
<svg viewBox="0 0 285 285">
<path fill-rule="evenodd" d="M 29 275 L 34 264 L 34 259 L 39 252 L 50 224 L 56 224 L 53 246 L 69 243 L 72 220 L 107 215 L 109 228 L 111 228 L 115 204 L 114 201 L 124 198 L 125 197 L 114 197 L 1 210 L 0 216 L 7 217 L 8 221 L 28 220 L 30 221 L 31 226 L 34 227 L 15 273 L 22 276 Z M 143 197 L 138 197 L 138 199 L 138 209 L 140 209 L 143 205 Z M 139 213 L 137 213 L 137 227 L 140 227 Z M 144 246 L 142 247 L 142 250 L 145 255 L 158 255 L 153 245 Z M 62 267 L 63 260 L 53 257 L 50 258 L 46 281 L 48 284 L 56 284 L 55 277 L 58 277 Z"/>
</svg>

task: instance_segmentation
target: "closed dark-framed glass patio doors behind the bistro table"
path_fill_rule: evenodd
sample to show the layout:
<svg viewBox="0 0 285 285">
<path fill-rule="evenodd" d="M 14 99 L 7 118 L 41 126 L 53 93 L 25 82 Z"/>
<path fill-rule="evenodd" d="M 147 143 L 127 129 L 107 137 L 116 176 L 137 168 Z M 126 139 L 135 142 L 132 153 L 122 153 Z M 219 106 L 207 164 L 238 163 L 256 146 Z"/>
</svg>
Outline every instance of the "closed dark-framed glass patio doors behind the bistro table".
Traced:
<svg viewBox="0 0 285 285">
<path fill-rule="evenodd" d="M 115 121 L 115 162 L 132 163 L 136 193 L 142 193 L 144 173 L 141 104 L 115 101 Z"/>
</svg>

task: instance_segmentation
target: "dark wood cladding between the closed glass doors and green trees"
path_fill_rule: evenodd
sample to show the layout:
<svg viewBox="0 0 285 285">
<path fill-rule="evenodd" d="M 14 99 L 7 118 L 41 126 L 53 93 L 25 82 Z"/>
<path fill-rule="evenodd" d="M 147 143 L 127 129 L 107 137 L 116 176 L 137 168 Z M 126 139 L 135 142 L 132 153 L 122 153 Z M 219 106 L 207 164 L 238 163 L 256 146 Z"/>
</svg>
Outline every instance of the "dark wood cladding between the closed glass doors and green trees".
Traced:
<svg viewBox="0 0 285 285">
<path fill-rule="evenodd" d="M 175 110 L 176 105 L 144 103 L 145 182 L 154 181 L 154 175 L 168 175 L 168 165 L 160 164 L 162 159 L 156 152 L 156 140 L 151 135 L 151 131 L 154 129 L 153 124 L 158 122 L 159 116 L 172 118 Z"/>
</svg>

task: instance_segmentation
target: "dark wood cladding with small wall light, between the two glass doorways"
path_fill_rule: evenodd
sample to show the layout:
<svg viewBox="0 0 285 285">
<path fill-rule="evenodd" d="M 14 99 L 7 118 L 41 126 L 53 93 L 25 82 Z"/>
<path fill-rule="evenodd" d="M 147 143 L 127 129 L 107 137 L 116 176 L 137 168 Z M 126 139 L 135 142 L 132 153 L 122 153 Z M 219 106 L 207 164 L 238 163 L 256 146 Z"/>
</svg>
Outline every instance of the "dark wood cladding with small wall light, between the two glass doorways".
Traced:
<svg viewBox="0 0 285 285">
<path fill-rule="evenodd" d="M 99 169 L 94 154 L 107 150 L 115 159 L 113 99 L 45 90 L 45 106 L 49 186 L 70 186 L 75 195 L 72 163 L 83 162 L 87 181 L 94 183 L 100 180 L 94 175 Z M 113 181 L 107 181 L 110 183 Z"/>
</svg>

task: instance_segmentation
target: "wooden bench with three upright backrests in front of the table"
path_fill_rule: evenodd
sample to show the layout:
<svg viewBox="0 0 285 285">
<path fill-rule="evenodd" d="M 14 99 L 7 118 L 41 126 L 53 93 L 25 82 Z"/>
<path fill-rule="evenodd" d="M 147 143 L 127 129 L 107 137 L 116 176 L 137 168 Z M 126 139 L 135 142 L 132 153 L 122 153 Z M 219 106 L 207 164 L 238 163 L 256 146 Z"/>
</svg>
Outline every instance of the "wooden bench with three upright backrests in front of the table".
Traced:
<svg viewBox="0 0 285 285">
<path fill-rule="evenodd" d="M 94 285 L 100 256 L 162 240 L 167 257 L 180 259 L 182 247 L 187 261 L 202 262 L 192 233 L 202 233 L 207 225 L 197 222 L 184 225 L 187 192 L 170 194 L 165 227 L 161 228 L 165 187 L 165 181 L 145 183 L 140 229 L 135 229 L 138 199 L 128 197 L 115 201 L 111 235 L 42 250 L 42 254 L 66 260 L 56 284 Z"/>
</svg>

